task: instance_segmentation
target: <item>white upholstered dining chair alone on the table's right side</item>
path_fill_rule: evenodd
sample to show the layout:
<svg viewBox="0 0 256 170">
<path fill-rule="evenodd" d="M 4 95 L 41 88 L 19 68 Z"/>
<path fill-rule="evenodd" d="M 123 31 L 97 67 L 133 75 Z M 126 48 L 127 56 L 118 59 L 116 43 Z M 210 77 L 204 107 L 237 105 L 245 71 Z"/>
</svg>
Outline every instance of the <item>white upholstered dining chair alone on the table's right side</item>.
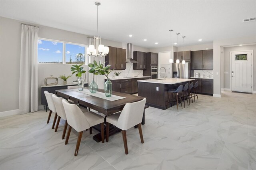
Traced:
<svg viewBox="0 0 256 170">
<path fill-rule="evenodd" d="M 109 137 L 109 125 L 112 124 L 122 130 L 125 154 L 128 154 L 126 130 L 128 130 L 129 128 L 138 125 L 140 141 L 141 143 L 144 143 L 141 121 L 143 117 L 145 104 L 146 98 L 134 103 L 126 103 L 124 109 L 121 112 L 106 117 L 106 142 L 108 142 Z"/>
</svg>

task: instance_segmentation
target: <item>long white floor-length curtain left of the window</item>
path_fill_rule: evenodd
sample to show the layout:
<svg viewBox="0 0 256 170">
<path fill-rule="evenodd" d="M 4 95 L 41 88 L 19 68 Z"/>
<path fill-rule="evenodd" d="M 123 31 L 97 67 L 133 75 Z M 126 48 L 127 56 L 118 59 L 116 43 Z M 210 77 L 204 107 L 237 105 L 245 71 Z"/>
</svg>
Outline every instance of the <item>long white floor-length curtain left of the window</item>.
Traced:
<svg viewBox="0 0 256 170">
<path fill-rule="evenodd" d="M 38 111 L 38 27 L 22 24 L 20 50 L 20 114 Z"/>
</svg>

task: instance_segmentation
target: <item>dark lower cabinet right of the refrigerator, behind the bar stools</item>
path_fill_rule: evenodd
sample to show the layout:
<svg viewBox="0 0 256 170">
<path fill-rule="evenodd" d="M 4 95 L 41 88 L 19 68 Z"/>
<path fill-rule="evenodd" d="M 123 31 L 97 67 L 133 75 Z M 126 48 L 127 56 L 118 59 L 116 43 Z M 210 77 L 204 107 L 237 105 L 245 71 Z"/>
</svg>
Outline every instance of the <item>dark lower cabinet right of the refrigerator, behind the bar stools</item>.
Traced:
<svg viewBox="0 0 256 170">
<path fill-rule="evenodd" d="M 197 93 L 205 95 L 213 95 L 213 79 L 196 79 L 193 82 L 194 84 L 198 81 L 198 87 L 196 88 Z M 194 93 L 194 89 L 192 88 Z"/>
</svg>

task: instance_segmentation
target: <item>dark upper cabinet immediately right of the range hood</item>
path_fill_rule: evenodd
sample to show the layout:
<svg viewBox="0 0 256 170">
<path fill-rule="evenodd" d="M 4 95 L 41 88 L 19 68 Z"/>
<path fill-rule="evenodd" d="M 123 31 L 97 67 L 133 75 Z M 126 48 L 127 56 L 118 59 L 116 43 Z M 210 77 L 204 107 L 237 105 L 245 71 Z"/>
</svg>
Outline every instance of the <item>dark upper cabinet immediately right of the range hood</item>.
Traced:
<svg viewBox="0 0 256 170">
<path fill-rule="evenodd" d="M 134 70 L 147 69 L 147 53 L 141 51 L 133 51 L 133 59 L 138 62 L 133 64 Z"/>
</svg>

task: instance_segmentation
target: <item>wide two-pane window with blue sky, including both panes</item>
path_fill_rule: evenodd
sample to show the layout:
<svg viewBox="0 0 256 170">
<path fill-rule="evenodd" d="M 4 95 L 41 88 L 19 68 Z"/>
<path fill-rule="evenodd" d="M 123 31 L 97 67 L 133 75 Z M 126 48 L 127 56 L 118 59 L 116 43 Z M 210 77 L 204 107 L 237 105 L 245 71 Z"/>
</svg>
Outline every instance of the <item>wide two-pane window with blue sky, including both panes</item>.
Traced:
<svg viewBox="0 0 256 170">
<path fill-rule="evenodd" d="M 86 45 L 38 39 L 38 63 L 84 64 Z"/>
</svg>

